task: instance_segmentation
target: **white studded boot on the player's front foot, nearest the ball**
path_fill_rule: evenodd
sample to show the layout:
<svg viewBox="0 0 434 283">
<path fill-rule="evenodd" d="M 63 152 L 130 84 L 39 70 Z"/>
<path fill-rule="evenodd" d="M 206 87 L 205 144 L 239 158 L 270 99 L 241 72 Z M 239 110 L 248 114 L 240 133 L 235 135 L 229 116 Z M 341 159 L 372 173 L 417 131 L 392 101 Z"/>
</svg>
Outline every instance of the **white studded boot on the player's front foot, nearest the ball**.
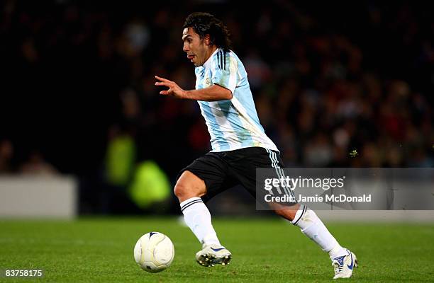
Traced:
<svg viewBox="0 0 434 283">
<path fill-rule="evenodd" d="M 196 261 L 199 265 L 213 267 L 214 265 L 228 265 L 232 254 L 220 245 L 204 244 L 202 250 L 196 253 Z"/>
</svg>

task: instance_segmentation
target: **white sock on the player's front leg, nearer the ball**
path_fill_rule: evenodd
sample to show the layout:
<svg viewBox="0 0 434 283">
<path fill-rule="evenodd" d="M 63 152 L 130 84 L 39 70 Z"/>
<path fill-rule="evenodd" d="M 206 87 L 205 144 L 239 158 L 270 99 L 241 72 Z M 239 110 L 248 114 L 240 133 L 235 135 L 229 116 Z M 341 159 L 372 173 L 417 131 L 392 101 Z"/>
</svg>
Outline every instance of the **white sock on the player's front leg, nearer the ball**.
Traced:
<svg viewBox="0 0 434 283">
<path fill-rule="evenodd" d="M 207 245 L 220 245 L 216 231 L 214 231 L 211 224 L 211 214 L 202 199 L 200 197 L 191 197 L 181 202 L 180 205 L 185 223 L 190 227 L 196 238 Z"/>
</svg>

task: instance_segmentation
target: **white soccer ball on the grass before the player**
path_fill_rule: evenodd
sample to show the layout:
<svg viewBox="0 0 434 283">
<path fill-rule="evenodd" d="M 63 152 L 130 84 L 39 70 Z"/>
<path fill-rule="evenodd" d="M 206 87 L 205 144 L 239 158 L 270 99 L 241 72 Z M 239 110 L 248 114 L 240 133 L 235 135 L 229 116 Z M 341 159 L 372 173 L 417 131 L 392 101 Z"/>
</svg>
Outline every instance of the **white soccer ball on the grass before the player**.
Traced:
<svg viewBox="0 0 434 283">
<path fill-rule="evenodd" d="M 147 233 L 135 243 L 134 260 L 145 271 L 163 271 L 170 266 L 173 258 L 173 243 L 163 233 Z"/>
</svg>

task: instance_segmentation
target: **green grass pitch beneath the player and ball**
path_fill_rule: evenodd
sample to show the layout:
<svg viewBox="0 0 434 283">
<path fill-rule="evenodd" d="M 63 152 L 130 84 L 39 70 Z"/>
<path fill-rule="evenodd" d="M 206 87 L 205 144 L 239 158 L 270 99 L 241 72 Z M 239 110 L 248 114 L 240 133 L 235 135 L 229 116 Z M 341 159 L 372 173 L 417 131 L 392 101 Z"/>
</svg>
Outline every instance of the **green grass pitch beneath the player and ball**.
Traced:
<svg viewBox="0 0 434 283">
<path fill-rule="evenodd" d="M 201 267 L 201 245 L 174 218 L 91 218 L 76 221 L 0 221 L 0 269 L 43 269 L 39 279 L 0 282 L 333 282 L 328 255 L 281 219 L 214 219 L 230 265 Z M 434 225 L 327 224 L 360 261 L 345 282 L 434 282 Z M 151 274 L 133 259 L 138 238 L 169 236 L 175 258 Z"/>
</svg>

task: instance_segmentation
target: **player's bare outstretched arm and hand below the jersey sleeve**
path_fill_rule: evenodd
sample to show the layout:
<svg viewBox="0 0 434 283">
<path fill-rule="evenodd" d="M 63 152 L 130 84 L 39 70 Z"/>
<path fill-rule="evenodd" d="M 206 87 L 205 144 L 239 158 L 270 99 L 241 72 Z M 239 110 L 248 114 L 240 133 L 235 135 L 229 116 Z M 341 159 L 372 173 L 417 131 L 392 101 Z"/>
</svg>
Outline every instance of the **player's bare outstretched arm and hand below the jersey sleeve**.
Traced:
<svg viewBox="0 0 434 283">
<path fill-rule="evenodd" d="M 218 84 L 208 86 L 207 88 L 185 91 L 174 81 L 160 78 L 160 76 L 155 76 L 155 79 L 158 80 L 155 82 L 155 86 L 167 86 L 169 88 L 167 91 L 160 91 L 160 94 L 163 96 L 174 96 L 176 98 L 202 101 L 229 100 L 232 98 L 232 91 Z"/>
</svg>

